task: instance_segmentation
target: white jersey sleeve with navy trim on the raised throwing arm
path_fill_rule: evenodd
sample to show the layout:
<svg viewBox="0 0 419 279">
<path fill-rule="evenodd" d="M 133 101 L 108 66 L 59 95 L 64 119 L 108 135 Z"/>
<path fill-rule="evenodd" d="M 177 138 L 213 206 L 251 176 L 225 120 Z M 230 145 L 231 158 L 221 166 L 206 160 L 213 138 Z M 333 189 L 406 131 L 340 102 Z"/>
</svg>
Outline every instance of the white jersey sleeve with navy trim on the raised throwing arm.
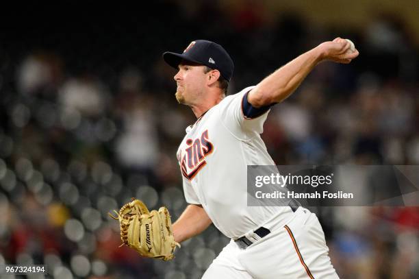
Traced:
<svg viewBox="0 0 419 279">
<path fill-rule="evenodd" d="M 264 132 L 264 122 L 268 117 L 270 107 L 253 107 L 247 100 L 249 92 L 255 88 L 250 86 L 244 90 L 226 97 L 225 104 L 221 107 L 221 118 L 223 124 L 238 137 L 244 134 L 262 134 Z M 227 99 L 229 98 L 229 99 Z M 241 135 L 241 136 L 240 136 Z"/>
</svg>

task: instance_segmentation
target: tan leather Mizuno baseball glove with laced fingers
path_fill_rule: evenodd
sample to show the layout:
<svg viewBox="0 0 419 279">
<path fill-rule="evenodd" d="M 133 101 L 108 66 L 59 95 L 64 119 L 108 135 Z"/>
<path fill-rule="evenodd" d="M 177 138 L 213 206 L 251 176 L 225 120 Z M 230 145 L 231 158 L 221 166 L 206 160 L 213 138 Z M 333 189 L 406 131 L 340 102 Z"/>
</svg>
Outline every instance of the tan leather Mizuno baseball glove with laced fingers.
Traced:
<svg viewBox="0 0 419 279">
<path fill-rule="evenodd" d="M 151 210 L 139 199 L 132 198 L 132 202 L 120 208 L 119 213 L 114 210 L 117 217 L 110 217 L 119 221 L 120 239 L 122 244 L 136 250 L 141 256 L 147 258 L 160 258 L 171 260 L 175 256 L 176 246 L 172 230 L 170 215 L 164 206 L 158 211 Z"/>
</svg>

